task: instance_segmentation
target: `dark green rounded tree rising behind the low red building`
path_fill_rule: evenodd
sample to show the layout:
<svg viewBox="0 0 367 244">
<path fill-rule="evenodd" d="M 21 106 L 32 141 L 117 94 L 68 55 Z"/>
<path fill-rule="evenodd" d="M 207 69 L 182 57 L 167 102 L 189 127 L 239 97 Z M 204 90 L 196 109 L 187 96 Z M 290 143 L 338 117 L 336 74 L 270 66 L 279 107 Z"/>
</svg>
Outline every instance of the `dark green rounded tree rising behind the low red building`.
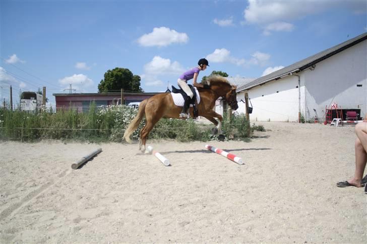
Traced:
<svg viewBox="0 0 367 244">
<path fill-rule="evenodd" d="M 108 69 L 104 79 L 98 84 L 98 92 L 119 91 L 144 92 L 140 87 L 140 76 L 134 75 L 128 68 Z"/>
</svg>

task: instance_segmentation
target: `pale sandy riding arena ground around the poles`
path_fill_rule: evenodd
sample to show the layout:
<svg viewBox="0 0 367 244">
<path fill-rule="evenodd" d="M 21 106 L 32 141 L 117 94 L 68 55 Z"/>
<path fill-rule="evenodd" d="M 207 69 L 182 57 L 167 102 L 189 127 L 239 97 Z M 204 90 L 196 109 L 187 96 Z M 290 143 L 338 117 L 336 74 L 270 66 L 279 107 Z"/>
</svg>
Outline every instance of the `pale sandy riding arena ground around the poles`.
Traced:
<svg viewBox="0 0 367 244">
<path fill-rule="evenodd" d="M 354 174 L 354 127 L 256 124 L 251 142 L 148 140 L 171 167 L 136 143 L 3 141 L 0 242 L 365 243 L 367 195 L 336 187 Z"/>
</svg>

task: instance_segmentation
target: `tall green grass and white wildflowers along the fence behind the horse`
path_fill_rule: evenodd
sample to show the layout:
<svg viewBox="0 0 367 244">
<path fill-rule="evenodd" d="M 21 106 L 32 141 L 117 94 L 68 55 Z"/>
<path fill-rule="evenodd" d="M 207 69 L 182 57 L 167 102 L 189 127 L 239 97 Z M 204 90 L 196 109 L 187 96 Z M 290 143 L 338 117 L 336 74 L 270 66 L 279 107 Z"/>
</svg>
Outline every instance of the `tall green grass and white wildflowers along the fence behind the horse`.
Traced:
<svg viewBox="0 0 367 244">
<path fill-rule="evenodd" d="M 57 113 L 39 111 L 27 113 L 0 109 L 0 139 L 34 141 L 41 139 L 79 140 L 89 142 L 122 142 L 123 135 L 136 116 L 137 110 L 127 106 L 96 107 L 94 103 L 86 113 L 76 108 Z M 244 115 L 223 118 L 223 132 L 229 139 L 247 137 Z M 133 133 L 138 139 L 145 120 Z M 213 125 L 197 124 L 193 120 L 161 119 L 149 134 L 153 139 L 175 139 L 178 141 L 207 141 L 211 138 Z"/>
</svg>

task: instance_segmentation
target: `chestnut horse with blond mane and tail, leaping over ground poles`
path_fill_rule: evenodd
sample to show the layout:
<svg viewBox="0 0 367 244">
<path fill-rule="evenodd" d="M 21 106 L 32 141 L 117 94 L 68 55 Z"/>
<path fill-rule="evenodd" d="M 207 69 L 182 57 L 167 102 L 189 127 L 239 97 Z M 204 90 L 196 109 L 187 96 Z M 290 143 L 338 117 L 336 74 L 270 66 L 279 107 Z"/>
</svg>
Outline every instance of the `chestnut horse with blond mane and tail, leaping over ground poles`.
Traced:
<svg viewBox="0 0 367 244">
<path fill-rule="evenodd" d="M 221 134 L 222 116 L 213 111 L 215 101 L 222 97 L 224 98 L 232 110 L 238 109 L 236 86 L 229 84 L 228 80 L 219 75 L 210 76 L 207 80 L 204 80 L 202 84 L 207 84 L 210 89 L 198 88 L 200 95 L 200 103 L 198 104 L 199 116 L 203 116 L 212 122 L 218 129 L 218 134 Z M 129 124 L 125 130 L 124 138 L 127 142 L 131 143 L 130 136 L 138 128 L 144 115 L 146 124 L 140 132 L 139 150 L 145 151 L 145 142 L 149 132 L 153 129 L 154 125 L 161 118 L 179 118 L 179 113 L 182 107 L 178 107 L 173 103 L 173 99 L 170 93 L 162 93 L 154 95 L 149 99 L 140 103 L 137 116 Z M 193 108 L 189 110 L 190 116 L 193 117 Z M 218 121 L 215 119 L 217 118 Z"/>
</svg>

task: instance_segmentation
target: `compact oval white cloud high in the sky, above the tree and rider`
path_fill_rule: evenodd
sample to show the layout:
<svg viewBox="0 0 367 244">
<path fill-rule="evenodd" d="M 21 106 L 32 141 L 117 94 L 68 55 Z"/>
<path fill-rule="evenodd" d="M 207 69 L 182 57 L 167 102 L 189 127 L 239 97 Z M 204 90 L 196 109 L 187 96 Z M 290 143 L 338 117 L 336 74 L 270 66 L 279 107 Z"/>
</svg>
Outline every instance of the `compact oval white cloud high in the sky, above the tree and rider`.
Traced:
<svg viewBox="0 0 367 244">
<path fill-rule="evenodd" d="M 142 46 L 168 46 L 172 43 L 187 43 L 189 36 L 186 33 L 178 33 L 167 27 L 154 28 L 153 32 L 144 34 L 138 39 L 138 43 Z"/>
</svg>

